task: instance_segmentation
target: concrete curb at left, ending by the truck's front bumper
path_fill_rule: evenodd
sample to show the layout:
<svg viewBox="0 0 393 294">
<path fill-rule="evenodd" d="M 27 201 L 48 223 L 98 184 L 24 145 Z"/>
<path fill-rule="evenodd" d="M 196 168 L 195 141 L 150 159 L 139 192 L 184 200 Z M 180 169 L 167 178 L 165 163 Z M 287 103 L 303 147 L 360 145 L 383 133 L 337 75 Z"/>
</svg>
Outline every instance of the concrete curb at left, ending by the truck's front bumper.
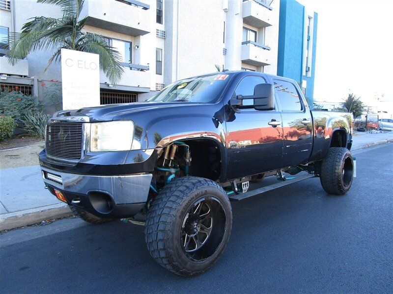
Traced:
<svg viewBox="0 0 393 294">
<path fill-rule="evenodd" d="M 0 215 L 0 231 L 19 228 L 48 219 L 59 219 L 72 215 L 68 205 L 63 203 L 32 208 Z"/>
</svg>

